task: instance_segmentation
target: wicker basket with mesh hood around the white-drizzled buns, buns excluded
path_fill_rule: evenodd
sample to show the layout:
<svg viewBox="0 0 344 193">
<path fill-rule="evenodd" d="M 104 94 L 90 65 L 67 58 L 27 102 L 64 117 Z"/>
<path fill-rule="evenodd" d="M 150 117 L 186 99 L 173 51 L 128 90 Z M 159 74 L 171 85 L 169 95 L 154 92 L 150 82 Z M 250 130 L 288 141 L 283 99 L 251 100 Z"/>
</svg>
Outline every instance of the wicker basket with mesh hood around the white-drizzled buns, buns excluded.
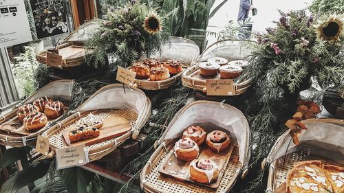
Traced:
<svg viewBox="0 0 344 193">
<path fill-rule="evenodd" d="M 7 124 L 8 122 L 12 122 L 12 120 L 15 121 L 17 117 L 17 111 L 19 109 L 19 106 L 21 106 L 21 104 L 32 103 L 37 98 L 40 98 L 43 96 L 49 96 L 53 100 L 61 100 L 65 104 L 68 104 L 69 101 L 72 99 L 73 85 L 74 85 L 74 80 L 57 80 L 54 82 L 50 82 L 49 84 L 45 85 L 45 87 L 36 91 L 36 93 L 28 97 L 26 100 L 24 100 L 20 104 L 17 104 L 17 106 L 14 106 L 14 109 L 10 111 L 10 113 L 7 113 L 6 115 L 1 116 L 0 126 L 3 126 Z M 59 117 L 58 119 L 61 119 L 61 117 Z M 54 120 L 54 121 L 56 122 L 57 120 Z M 4 133 L 3 131 L 1 131 L 0 144 L 3 146 L 12 146 L 12 147 L 22 147 L 22 146 L 34 144 L 36 142 L 37 136 L 43 133 L 45 130 L 47 130 L 47 128 L 50 128 L 52 124 L 54 124 L 54 122 L 48 122 L 47 126 L 45 126 L 44 128 L 41 128 L 40 130 L 37 130 L 34 133 L 30 133 L 30 135 L 20 135 L 18 133 L 10 133 L 10 132 Z"/>
</svg>

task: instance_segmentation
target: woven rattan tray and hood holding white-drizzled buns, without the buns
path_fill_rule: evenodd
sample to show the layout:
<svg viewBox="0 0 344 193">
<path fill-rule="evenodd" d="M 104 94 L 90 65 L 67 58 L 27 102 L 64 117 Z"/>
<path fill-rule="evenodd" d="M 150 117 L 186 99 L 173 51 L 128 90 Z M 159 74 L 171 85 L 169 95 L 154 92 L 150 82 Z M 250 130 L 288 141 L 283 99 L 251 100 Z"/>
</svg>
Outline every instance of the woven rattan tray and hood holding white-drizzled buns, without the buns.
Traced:
<svg viewBox="0 0 344 193">
<path fill-rule="evenodd" d="M 56 122 L 58 122 L 58 120 L 61 120 L 63 115 L 56 118 L 55 120 L 49 120 L 49 122 L 47 123 L 47 125 L 44 128 L 41 128 L 40 130 L 29 133 L 29 132 L 25 131 L 21 122 L 19 122 L 19 120 L 17 120 L 17 111 L 19 109 L 19 106 L 21 106 L 21 104 L 32 103 L 33 100 L 36 100 L 37 98 L 39 98 L 41 96 L 45 96 L 45 95 L 49 96 L 53 100 L 60 100 L 66 106 L 68 106 L 69 100 L 70 100 L 70 98 L 72 98 L 71 95 L 72 95 L 73 84 L 74 84 L 73 80 L 57 80 L 54 82 L 50 82 L 45 87 L 39 89 L 39 91 L 36 91 L 36 93 L 32 94 L 27 100 L 24 100 L 23 102 L 21 102 L 17 106 L 14 106 L 14 109 L 12 111 L 7 113 L 6 115 L 1 116 L 0 117 L 0 124 L 1 125 L 3 125 L 3 124 L 14 124 L 14 123 L 19 123 L 19 124 L 18 124 L 18 129 L 14 132 L 10 132 L 10 131 L 4 132 L 3 130 L 1 130 L 1 132 L 0 132 L 0 144 L 4 145 L 4 146 L 12 146 L 12 147 L 22 147 L 22 146 L 28 146 L 28 145 L 34 144 L 36 142 L 37 136 L 40 135 L 41 133 L 43 133 L 48 128 L 50 128 L 51 126 L 53 126 Z M 56 91 L 55 88 L 56 87 L 62 87 L 61 85 L 63 85 L 63 87 L 65 87 L 65 88 L 61 88 L 61 90 L 65 90 L 65 94 L 67 94 L 67 95 L 69 94 L 68 100 L 63 99 L 63 98 L 65 98 L 65 96 L 63 98 L 61 98 L 58 94 L 56 95 L 56 93 L 55 93 L 55 91 Z M 47 92 L 47 90 L 50 90 L 50 91 Z M 67 90 L 69 90 L 69 91 L 67 91 Z M 30 102 L 28 102 L 28 100 L 30 100 Z"/>
</svg>

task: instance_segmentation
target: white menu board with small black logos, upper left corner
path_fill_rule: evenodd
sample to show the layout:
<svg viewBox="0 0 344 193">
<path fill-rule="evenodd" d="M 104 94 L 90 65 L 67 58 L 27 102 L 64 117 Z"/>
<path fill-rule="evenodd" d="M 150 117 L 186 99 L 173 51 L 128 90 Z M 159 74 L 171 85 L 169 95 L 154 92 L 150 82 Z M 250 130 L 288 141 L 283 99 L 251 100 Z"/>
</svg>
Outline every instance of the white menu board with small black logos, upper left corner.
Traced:
<svg viewBox="0 0 344 193">
<path fill-rule="evenodd" d="M 0 47 L 32 41 L 23 0 L 0 0 Z"/>
</svg>

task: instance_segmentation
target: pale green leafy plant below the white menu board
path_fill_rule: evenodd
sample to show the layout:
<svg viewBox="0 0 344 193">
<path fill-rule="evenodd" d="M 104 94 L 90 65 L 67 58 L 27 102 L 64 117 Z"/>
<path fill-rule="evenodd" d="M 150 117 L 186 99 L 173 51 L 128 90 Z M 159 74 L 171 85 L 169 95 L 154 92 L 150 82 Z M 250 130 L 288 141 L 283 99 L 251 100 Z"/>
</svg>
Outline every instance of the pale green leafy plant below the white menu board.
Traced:
<svg viewBox="0 0 344 193">
<path fill-rule="evenodd" d="M 27 97 L 36 91 L 34 85 L 34 73 L 39 67 L 36 60 L 36 53 L 33 47 L 26 46 L 25 53 L 14 58 L 15 63 L 12 65 L 13 75 L 19 86 L 20 97 Z"/>
</svg>

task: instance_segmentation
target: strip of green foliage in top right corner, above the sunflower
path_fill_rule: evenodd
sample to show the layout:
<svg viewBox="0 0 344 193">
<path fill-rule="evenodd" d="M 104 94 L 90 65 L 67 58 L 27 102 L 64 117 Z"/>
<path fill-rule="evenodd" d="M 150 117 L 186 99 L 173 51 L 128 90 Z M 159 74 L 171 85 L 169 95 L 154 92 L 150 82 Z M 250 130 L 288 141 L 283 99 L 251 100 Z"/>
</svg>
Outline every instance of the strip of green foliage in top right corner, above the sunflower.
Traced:
<svg viewBox="0 0 344 193">
<path fill-rule="evenodd" d="M 310 7 L 313 13 L 337 13 L 344 12 L 344 0 L 314 0 Z"/>
</svg>

